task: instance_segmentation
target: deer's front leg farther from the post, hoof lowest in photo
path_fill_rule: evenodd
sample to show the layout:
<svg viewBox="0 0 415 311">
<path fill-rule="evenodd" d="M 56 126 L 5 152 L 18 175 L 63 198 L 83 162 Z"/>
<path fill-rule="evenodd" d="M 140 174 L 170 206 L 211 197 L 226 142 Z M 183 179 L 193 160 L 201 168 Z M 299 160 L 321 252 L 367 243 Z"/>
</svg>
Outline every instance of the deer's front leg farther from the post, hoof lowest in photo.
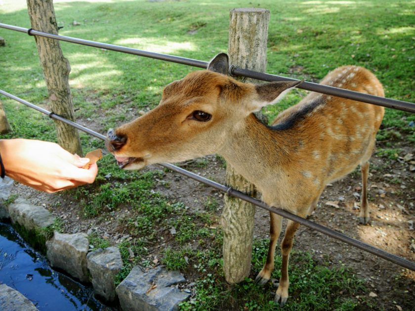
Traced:
<svg viewBox="0 0 415 311">
<path fill-rule="evenodd" d="M 288 277 L 288 261 L 290 258 L 290 251 L 294 240 L 295 232 L 297 231 L 300 224 L 291 220 L 287 223 L 287 229 L 283 242 L 281 243 L 281 252 L 283 255 L 280 283 L 275 293 L 274 302 L 280 303 L 280 307 L 284 307 L 288 299 L 288 287 L 290 286 L 290 279 Z"/>
</svg>

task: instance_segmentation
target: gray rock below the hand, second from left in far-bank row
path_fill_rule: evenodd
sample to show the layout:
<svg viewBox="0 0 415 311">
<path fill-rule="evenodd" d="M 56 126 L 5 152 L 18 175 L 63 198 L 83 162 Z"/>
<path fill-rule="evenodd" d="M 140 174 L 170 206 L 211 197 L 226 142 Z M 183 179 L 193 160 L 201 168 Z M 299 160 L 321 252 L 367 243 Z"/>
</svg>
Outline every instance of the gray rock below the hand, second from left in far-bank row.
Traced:
<svg viewBox="0 0 415 311">
<path fill-rule="evenodd" d="M 51 212 L 41 206 L 35 206 L 25 199 L 18 198 L 8 206 L 11 221 L 25 227 L 26 230 L 39 230 L 53 224 Z"/>
</svg>

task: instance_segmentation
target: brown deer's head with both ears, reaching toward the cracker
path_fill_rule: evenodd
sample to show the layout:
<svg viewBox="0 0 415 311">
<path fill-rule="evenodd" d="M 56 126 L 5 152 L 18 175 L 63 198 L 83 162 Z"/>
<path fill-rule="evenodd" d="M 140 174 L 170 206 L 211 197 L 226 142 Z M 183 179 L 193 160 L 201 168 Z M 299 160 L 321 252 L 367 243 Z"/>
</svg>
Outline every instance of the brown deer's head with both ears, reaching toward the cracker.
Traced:
<svg viewBox="0 0 415 311">
<path fill-rule="evenodd" d="M 218 54 L 207 70 L 168 84 L 156 108 L 110 129 L 106 145 L 119 166 L 137 170 L 220 153 L 250 113 L 300 83 L 242 83 L 228 76 L 228 68 L 228 56 Z"/>
</svg>

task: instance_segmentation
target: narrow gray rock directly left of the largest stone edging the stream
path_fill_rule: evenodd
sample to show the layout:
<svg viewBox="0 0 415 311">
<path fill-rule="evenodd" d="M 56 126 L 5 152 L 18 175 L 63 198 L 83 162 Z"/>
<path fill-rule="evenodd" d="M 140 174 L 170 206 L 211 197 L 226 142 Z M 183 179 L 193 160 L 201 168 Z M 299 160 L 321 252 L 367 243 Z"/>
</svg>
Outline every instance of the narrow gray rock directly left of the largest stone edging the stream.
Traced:
<svg viewBox="0 0 415 311">
<path fill-rule="evenodd" d="M 123 259 L 118 247 L 99 248 L 88 253 L 86 267 L 91 275 L 95 294 L 107 301 L 114 301 L 115 277 L 123 268 Z"/>
</svg>

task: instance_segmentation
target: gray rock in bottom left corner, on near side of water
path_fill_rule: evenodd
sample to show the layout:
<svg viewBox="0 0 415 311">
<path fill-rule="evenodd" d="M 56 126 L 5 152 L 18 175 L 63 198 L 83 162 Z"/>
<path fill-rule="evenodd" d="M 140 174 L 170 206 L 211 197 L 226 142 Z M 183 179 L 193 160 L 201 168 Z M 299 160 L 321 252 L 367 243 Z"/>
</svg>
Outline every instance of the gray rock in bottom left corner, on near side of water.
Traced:
<svg viewBox="0 0 415 311">
<path fill-rule="evenodd" d="M 38 311 L 38 308 L 17 290 L 0 284 L 0 310 Z"/>
</svg>

